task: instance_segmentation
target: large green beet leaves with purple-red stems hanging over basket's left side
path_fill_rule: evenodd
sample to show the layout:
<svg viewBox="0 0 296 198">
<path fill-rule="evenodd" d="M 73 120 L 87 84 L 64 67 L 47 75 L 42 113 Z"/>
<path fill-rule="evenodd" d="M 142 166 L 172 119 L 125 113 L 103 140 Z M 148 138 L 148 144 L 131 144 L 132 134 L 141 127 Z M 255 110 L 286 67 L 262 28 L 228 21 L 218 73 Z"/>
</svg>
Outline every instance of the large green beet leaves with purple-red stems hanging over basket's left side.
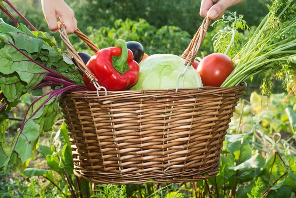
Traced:
<svg viewBox="0 0 296 198">
<path fill-rule="evenodd" d="M 61 116 L 59 97 L 70 89 L 86 90 L 82 76 L 65 51 L 47 33 L 31 32 L 25 25 L 17 28 L 0 19 L 0 168 L 12 164 L 22 171 L 36 158 L 42 132 Z M 42 87 L 53 91 L 43 94 Z M 7 144 L 6 119 L 12 107 L 26 93 L 39 97 L 29 107 L 16 136 Z"/>
</svg>

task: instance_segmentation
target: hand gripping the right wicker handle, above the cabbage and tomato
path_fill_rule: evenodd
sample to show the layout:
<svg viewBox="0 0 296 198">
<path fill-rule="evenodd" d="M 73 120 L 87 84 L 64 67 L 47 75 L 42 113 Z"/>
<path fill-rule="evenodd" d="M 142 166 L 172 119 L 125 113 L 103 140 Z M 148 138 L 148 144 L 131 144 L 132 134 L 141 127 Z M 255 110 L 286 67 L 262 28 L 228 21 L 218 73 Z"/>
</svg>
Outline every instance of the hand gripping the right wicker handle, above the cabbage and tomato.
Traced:
<svg viewBox="0 0 296 198">
<path fill-rule="evenodd" d="M 245 0 L 202 0 L 200 6 L 200 16 L 210 17 L 212 20 L 219 19 L 225 10 Z"/>
</svg>

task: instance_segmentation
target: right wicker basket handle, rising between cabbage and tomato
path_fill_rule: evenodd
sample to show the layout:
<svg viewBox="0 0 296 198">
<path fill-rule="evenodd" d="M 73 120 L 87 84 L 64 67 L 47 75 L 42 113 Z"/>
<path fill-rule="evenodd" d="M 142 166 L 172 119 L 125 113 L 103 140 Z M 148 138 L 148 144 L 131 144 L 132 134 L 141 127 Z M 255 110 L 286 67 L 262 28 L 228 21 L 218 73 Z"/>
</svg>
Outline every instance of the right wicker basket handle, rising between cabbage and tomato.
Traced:
<svg viewBox="0 0 296 198">
<path fill-rule="evenodd" d="M 195 60 L 196 54 L 206 36 L 210 23 L 211 19 L 207 16 L 203 20 L 201 26 L 199 27 L 193 39 L 191 40 L 189 46 L 187 47 L 187 49 L 185 49 L 184 53 L 182 54 L 181 57 L 185 59 L 185 65 L 192 65 L 193 61 Z"/>
</svg>

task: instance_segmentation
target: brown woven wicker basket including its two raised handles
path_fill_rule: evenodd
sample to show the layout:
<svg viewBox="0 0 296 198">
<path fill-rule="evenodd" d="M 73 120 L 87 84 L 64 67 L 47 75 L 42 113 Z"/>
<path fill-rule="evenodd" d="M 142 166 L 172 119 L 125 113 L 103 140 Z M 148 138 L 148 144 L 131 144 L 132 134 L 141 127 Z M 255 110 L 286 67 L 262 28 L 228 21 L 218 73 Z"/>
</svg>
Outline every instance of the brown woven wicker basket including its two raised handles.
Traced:
<svg viewBox="0 0 296 198">
<path fill-rule="evenodd" d="M 183 54 L 188 64 L 209 23 L 205 19 Z M 60 32 L 80 69 L 91 73 L 76 54 L 64 26 Z M 80 31 L 76 34 L 94 51 L 99 50 Z M 60 106 L 71 137 L 75 175 L 104 184 L 179 183 L 215 176 L 228 124 L 245 88 L 242 83 L 178 92 L 64 94 Z"/>
</svg>

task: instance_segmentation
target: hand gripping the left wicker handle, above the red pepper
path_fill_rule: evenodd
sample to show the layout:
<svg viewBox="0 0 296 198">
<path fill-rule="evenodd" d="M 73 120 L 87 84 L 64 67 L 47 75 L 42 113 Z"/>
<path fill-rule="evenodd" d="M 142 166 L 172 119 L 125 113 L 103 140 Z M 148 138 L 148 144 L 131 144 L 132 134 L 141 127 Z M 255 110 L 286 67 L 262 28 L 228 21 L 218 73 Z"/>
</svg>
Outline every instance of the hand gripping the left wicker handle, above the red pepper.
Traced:
<svg viewBox="0 0 296 198">
<path fill-rule="evenodd" d="M 65 24 L 67 34 L 73 34 L 77 30 L 77 20 L 74 11 L 64 0 L 41 0 L 43 14 L 52 33 L 60 29 L 61 22 Z M 57 21 L 60 18 L 61 22 Z"/>
</svg>

